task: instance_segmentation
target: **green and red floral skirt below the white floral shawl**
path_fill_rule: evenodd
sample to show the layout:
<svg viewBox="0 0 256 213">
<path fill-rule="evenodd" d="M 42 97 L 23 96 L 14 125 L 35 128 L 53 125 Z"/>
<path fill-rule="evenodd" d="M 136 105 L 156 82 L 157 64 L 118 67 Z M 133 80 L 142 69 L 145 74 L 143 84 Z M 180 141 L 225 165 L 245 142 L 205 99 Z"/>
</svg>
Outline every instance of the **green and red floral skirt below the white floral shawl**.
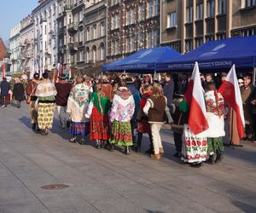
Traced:
<svg viewBox="0 0 256 213">
<path fill-rule="evenodd" d="M 131 123 L 113 121 L 109 142 L 124 147 L 132 146 Z"/>
</svg>

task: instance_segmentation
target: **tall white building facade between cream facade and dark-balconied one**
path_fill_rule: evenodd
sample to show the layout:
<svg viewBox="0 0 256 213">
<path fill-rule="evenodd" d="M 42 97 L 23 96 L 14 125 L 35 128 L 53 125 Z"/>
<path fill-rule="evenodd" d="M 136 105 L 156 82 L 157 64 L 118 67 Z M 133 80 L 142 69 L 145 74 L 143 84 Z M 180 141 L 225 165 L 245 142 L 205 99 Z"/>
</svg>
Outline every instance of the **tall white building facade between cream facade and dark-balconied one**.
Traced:
<svg viewBox="0 0 256 213">
<path fill-rule="evenodd" d="M 42 1 L 32 11 L 34 21 L 35 72 L 53 70 L 57 66 L 57 0 Z"/>
</svg>

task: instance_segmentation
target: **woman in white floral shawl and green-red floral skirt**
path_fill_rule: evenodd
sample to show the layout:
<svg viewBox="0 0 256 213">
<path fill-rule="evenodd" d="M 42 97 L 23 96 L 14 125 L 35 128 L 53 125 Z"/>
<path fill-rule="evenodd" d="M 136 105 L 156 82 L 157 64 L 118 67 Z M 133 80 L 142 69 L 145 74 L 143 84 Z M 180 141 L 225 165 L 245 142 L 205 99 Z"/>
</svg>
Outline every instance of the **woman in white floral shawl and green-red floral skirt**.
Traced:
<svg viewBox="0 0 256 213">
<path fill-rule="evenodd" d="M 113 104 L 110 112 L 112 123 L 112 134 L 110 137 L 110 150 L 113 145 L 125 147 L 125 154 L 130 154 L 130 147 L 133 145 L 131 134 L 131 118 L 135 110 L 135 102 L 131 91 L 125 86 L 125 82 L 119 83 L 119 89 L 113 96 Z"/>
</svg>

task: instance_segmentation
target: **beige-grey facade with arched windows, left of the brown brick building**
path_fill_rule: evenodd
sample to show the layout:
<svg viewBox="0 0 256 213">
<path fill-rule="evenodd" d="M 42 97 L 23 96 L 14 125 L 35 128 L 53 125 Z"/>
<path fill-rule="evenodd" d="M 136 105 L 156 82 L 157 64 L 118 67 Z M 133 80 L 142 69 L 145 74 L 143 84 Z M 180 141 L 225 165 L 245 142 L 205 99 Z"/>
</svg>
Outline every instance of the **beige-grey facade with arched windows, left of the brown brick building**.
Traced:
<svg viewBox="0 0 256 213">
<path fill-rule="evenodd" d="M 90 0 L 84 9 L 85 69 L 100 71 L 106 61 L 107 0 Z"/>
</svg>

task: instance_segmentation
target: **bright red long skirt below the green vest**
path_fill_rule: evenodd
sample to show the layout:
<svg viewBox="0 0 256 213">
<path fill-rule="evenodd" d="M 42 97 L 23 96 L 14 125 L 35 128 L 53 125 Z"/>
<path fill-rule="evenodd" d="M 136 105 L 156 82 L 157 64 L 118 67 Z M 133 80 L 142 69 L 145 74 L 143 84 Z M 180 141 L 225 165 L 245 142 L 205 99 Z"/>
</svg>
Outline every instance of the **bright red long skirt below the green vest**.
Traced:
<svg viewBox="0 0 256 213">
<path fill-rule="evenodd" d="M 97 108 L 93 107 L 90 116 L 90 140 L 108 141 L 109 136 L 108 114 L 102 116 Z"/>
</svg>

